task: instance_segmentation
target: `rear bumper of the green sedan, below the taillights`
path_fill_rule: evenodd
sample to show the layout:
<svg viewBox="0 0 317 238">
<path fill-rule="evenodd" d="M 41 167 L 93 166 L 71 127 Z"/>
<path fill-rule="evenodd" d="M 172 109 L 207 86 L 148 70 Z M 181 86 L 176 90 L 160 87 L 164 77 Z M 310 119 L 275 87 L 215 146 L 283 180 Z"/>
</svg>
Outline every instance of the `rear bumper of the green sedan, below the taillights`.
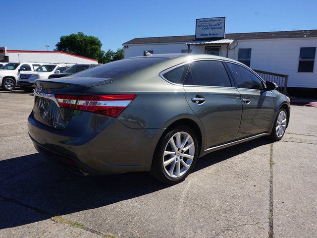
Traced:
<svg viewBox="0 0 317 238">
<path fill-rule="evenodd" d="M 89 114 L 91 119 L 77 123 L 73 117 L 73 123 L 58 130 L 37 121 L 31 113 L 28 129 L 36 150 L 55 162 L 91 175 L 151 169 L 164 129 L 132 129 L 114 118 L 101 120 L 98 118 L 106 116 L 83 114 Z"/>
</svg>

